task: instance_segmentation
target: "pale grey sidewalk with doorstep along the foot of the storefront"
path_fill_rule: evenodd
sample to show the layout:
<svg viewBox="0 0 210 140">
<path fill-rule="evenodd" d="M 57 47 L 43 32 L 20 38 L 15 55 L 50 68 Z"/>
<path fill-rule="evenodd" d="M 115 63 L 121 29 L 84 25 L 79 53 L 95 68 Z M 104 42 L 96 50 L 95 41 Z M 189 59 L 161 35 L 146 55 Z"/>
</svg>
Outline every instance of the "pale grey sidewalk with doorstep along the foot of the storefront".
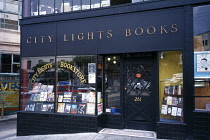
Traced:
<svg viewBox="0 0 210 140">
<path fill-rule="evenodd" d="M 16 120 L 17 115 L 4 116 L 0 122 Z M 155 140 L 156 134 L 150 131 L 130 129 L 103 129 L 99 133 L 48 134 L 31 136 L 11 136 L 1 140 Z"/>
</svg>

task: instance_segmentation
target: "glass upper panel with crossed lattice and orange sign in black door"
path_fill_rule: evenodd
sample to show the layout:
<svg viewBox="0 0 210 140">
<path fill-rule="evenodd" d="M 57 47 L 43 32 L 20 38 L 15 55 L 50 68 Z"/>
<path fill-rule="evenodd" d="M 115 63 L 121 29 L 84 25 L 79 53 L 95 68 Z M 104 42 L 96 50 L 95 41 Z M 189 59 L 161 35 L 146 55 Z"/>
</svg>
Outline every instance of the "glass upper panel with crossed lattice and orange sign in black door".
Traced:
<svg viewBox="0 0 210 140">
<path fill-rule="evenodd" d="M 150 96 L 151 75 L 150 66 L 147 64 L 127 65 L 127 94 Z"/>
</svg>

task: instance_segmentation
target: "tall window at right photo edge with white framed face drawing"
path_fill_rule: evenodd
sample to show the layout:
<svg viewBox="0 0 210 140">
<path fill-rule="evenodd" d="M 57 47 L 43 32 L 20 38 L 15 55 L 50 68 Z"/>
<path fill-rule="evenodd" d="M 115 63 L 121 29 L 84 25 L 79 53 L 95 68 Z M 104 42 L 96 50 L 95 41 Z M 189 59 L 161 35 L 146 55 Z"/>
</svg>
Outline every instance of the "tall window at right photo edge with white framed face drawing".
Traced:
<svg viewBox="0 0 210 140">
<path fill-rule="evenodd" d="M 210 5 L 194 7 L 195 110 L 210 111 Z"/>
</svg>

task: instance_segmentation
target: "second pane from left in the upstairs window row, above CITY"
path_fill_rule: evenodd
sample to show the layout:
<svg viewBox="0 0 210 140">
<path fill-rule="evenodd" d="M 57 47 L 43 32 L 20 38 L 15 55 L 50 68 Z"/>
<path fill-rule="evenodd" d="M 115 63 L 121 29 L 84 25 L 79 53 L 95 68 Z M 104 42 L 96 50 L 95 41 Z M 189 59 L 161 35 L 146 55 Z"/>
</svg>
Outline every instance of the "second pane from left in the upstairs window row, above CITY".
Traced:
<svg viewBox="0 0 210 140">
<path fill-rule="evenodd" d="M 54 12 L 54 0 L 40 0 L 39 15 L 52 14 Z"/>
</svg>

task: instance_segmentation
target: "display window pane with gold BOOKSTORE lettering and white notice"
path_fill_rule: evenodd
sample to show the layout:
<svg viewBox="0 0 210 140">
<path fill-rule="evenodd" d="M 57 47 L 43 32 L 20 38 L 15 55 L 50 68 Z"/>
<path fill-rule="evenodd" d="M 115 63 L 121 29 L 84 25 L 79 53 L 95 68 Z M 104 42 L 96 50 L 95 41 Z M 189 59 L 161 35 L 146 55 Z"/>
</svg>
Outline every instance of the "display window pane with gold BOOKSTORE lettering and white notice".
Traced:
<svg viewBox="0 0 210 140">
<path fill-rule="evenodd" d="M 57 63 L 57 112 L 95 115 L 95 56 L 60 56 Z"/>
</svg>

